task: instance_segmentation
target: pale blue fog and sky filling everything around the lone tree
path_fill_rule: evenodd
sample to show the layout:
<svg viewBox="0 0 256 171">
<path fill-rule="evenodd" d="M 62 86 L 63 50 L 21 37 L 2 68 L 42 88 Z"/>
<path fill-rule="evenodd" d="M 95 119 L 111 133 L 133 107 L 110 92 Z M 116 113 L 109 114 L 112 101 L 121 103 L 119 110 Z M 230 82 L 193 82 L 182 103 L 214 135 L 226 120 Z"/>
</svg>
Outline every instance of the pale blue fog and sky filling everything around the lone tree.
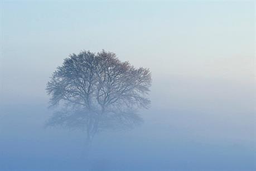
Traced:
<svg viewBox="0 0 256 171">
<path fill-rule="evenodd" d="M 253 2 L 2 2 L 0 170 L 254 170 Z M 45 127 L 46 84 L 71 53 L 152 72 L 143 123 Z"/>
</svg>

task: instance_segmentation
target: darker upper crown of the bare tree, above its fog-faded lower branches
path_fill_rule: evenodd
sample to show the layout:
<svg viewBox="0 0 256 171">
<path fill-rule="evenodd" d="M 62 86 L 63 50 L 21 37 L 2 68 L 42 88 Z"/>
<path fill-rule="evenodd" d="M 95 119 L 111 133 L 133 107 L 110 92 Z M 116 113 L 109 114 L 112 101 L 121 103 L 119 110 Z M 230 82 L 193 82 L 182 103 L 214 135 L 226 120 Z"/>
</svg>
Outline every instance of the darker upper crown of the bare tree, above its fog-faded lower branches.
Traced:
<svg viewBox="0 0 256 171">
<path fill-rule="evenodd" d="M 114 53 L 71 54 L 47 83 L 51 105 L 64 102 L 95 114 L 148 108 L 151 72 L 121 62 Z"/>
</svg>

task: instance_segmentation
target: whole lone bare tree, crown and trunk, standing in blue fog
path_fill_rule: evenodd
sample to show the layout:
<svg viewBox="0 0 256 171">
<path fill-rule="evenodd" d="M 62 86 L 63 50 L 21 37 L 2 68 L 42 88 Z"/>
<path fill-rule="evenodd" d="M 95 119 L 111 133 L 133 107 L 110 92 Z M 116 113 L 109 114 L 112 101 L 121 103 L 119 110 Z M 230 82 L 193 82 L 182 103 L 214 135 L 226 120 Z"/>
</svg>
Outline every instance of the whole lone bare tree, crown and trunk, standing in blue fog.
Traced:
<svg viewBox="0 0 256 171">
<path fill-rule="evenodd" d="M 71 54 L 47 83 L 51 106 L 65 106 L 48 124 L 83 128 L 90 142 L 102 128 L 138 123 L 137 110 L 150 104 L 150 86 L 149 69 L 134 68 L 114 53 Z"/>
</svg>

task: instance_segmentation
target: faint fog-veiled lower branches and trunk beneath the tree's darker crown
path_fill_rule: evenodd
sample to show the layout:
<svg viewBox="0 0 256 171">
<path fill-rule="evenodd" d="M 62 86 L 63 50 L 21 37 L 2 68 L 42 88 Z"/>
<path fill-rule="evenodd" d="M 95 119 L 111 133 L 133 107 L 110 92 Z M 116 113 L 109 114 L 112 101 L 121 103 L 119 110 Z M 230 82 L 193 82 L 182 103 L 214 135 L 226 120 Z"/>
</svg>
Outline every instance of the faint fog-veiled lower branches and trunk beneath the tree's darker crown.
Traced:
<svg viewBox="0 0 256 171">
<path fill-rule="evenodd" d="M 81 130 L 85 133 L 84 154 L 89 153 L 96 134 L 108 130 L 127 130 L 136 125 L 141 125 L 143 119 L 133 111 L 127 110 L 118 113 L 108 112 L 104 115 L 96 115 L 84 112 L 82 108 L 62 108 L 52 114 L 46 121 L 45 127 L 59 127 L 70 130 Z"/>
</svg>

